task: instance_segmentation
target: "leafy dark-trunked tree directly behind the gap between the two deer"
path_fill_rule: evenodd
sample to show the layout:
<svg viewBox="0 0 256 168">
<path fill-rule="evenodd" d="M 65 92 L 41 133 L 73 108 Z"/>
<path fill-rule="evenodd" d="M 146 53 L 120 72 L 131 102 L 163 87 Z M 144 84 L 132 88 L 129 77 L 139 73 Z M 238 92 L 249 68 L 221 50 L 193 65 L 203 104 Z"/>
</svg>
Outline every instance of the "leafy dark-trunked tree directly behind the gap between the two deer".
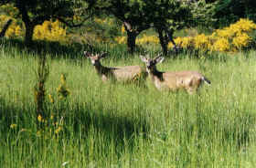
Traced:
<svg viewBox="0 0 256 168">
<path fill-rule="evenodd" d="M 144 12 L 144 5 L 143 0 L 98 0 L 94 9 L 112 14 L 123 22 L 127 33 L 128 51 L 133 53 L 136 37 L 151 24 Z"/>
</svg>

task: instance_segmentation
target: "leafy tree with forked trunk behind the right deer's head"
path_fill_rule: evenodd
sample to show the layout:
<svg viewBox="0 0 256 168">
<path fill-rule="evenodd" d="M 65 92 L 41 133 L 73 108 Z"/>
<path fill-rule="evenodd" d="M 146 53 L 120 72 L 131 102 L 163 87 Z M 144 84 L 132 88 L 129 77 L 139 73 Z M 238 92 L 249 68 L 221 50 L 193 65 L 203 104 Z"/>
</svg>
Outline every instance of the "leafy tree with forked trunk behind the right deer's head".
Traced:
<svg viewBox="0 0 256 168">
<path fill-rule="evenodd" d="M 164 55 L 167 54 L 167 45 L 171 41 L 176 49 L 173 34 L 176 30 L 189 26 L 191 20 L 190 8 L 182 1 L 176 0 L 149 0 L 145 1 L 144 11 L 151 18 L 151 22 L 158 33 Z"/>
</svg>

